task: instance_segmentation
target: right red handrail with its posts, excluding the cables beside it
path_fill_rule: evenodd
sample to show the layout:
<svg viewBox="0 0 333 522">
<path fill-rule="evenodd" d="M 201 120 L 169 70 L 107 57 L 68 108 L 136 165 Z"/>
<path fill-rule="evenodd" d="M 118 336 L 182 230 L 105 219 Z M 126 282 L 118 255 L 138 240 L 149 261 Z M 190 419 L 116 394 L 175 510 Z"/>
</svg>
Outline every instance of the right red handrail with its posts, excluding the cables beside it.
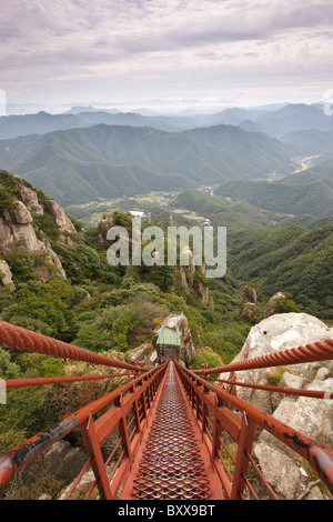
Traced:
<svg viewBox="0 0 333 522">
<path fill-rule="evenodd" d="M 229 499 L 243 498 L 250 464 L 246 454 L 251 454 L 256 426 L 264 429 L 306 459 L 330 492 L 333 493 L 333 453 L 329 449 L 222 388 L 210 384 L 198 373 L 184 369 L 179 363 L 175 363 L 175 367 L 186 390 L 189 402 L 195 412 L 195 418 L 201 424 L 203 439 L 211 453 L 216 475 L 220 478 L 221 485 Z M 211 370 L 206 373 L 210 372 Z M 232 409 L 241 412 L 241 419 Z M 210 416 L 213 418 L 213 423 Z M 224 459 L 220 452 L 221 433 L 224 430 L 239 448 L 232 476 L 229 476 L 230 471 L 226 471 Z"/>
</svg>

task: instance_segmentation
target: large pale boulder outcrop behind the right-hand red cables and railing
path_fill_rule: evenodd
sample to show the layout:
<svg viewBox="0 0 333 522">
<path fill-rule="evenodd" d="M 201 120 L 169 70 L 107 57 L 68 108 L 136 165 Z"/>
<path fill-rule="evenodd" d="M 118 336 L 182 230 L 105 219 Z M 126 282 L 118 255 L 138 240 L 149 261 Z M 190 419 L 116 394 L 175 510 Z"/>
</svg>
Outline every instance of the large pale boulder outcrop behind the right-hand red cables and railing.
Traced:
<svg viewBox="0 0 333 522">
<path fill-rule="evenodd" d="M 280 313 L 264 319 L 251 329 L 244 347 L 234 361 L 276 353 L 332 338 L 333 328 L 315 317 L 306 313 Z M 235 380 L 252 384 L 274 383 L 279 387 L 329 391 L 333 385 L 332 371 L 333 361 L 321 361 L 240 371 L 235 373 Z M 224 373 L 221 378 L 225 379 L 225 375 L 228 374 Z M 333 448 L 332 400 L 268 393 L 243 387 L 236 387 L 236 394 L 312 440 Z M 265 430 L 256 438 L 254 455 L 265 476 L 282 498 L 294 499 L 306 488 L 310 478 L 302 466 L 301 459 Z M 321 499 L 323 495 L 315 488 L 311 498 Z"/>
</svg>

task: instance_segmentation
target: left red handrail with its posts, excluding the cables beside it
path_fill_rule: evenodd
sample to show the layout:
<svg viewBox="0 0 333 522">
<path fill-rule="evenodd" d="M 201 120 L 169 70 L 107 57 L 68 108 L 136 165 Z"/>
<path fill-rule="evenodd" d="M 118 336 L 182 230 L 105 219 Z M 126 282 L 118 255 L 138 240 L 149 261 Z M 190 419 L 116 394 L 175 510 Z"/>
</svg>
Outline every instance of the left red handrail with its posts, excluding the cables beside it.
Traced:
<svg viewBox="0 0 333 522">
<path fill-rule="evenodd" d="M 110 488 L 110 484 L 107 486 L 108 479 L 105 478 L 105 465 L 101 460 L 101 446 L 111 433 L 117 429 L 120 430 L 120 443 L 125 459 L 122 463 L 118 482 L 120 476 L 124 480 L 125 473 L 131 465 L 131 455 L 138 449 L 140 433 L 142 433 L 147 424 L 149 411 L 167 367 L 168 363 L 131 380 L 107 395 L 65 416 L 61 422 L 44 432 L 38 433 L 22 444 L 2 454 L 0 456 L 0 491 L 6 488 L 17 472 L 32 462 L 39 454 L 50 448 L 54 442 L 63 439 L 75 428 L 80 428 L 101 499 L 115 498 L 121 482 L 118 483 L 114 490 Z M 139 402 L 141 404 L 141 412 Z M 114 404 L 113 408 L 94 422 L 93 415 L 111 403 Z M 135 436 L 132 441 L 129 440 L 129 423 L 127 421 L 127 416 L 130 412 L 132 412 L 132 419 L 135 420 Z M 132 422 L 132 420 L 130 422 Z"/>
</svg>

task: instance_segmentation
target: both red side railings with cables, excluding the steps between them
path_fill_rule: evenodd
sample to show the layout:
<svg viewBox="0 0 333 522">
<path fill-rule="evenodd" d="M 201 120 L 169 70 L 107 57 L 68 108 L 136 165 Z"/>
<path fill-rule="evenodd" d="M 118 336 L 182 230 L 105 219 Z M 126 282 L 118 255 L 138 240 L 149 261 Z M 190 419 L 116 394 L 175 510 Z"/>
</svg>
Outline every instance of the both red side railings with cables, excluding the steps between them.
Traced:
<svg viewBox="0 0 333 522">
<path fill-rule="evenodd" d="M 152 369 L 143 369 L 139 364 L 124 363 L 3 322 L 0 322 L 0 345 L 127 370 L 125 373 L 104 375 L 8 380 L 6 381 L 8 389 L 80 380 L 112 379 L 120 375 L 128 379 L 128 382 L 121 387 L 1 455 L 0 489 L 3 490 L 17 472 L 54 442 L 64 438 L 72 430 L 79 429 L 87 451 L 87 461 L 63 498 L 81 498 L 81 493 L 78 493 L 81 481 L 85 472 L 92 470 L 94 479 L 89 484 L 88 491 L 84 492 L 84 499 L 97 495 L 101 500 L 120 499 L 131 475 L 143 432 L 147 433 L 150 426 L 151 413 L 158 401 L 159 390 L 163 387 L 169 362 Z M 201 430 L 202 441 L 210 455 L 214 470 L 213 481 L 216 483 L 216 490 L 223 490 L 223 498 L 260 499 L 263 495 L 263 485 L 268 496 L 278 499 L 276 493 L 252 456 L 258 426 L 266 430 L 304 458 L 319 473 L 331 493 L 333 493 L 333 454 L 329 449 L 246 403 L 235 394 L 222 389 L 221 385 L 211 384 L 209 380 L 215 379 L 209 375 L 226 371 L 234 372 L 330 359 L 333 359 L 332 340 L 220 368 L 208 369 L 205 365 L 203 370 L 195 372 L 174 361 L 179 379 L 188 396 L 189 409 L 191 408 L 194 413 Z M 216 381 L 230 384 L 231 389 L 235 385 L 248 385 L 234 379 L 218 379 Z M 305 394 L 319 399 L 324 396 L 323 392 L 312 390 L 256 388 Z M 327 396 L 333 399 L 333 393 L 325 394 L 326 399 Z M 232 449 L 234 446 L 236 446 L 236 452 Z M 176 462 L 174 465 L 176 466 Z M 256 491 L 258 482 L 261 483 L 260 492 Z"/>
</svg>

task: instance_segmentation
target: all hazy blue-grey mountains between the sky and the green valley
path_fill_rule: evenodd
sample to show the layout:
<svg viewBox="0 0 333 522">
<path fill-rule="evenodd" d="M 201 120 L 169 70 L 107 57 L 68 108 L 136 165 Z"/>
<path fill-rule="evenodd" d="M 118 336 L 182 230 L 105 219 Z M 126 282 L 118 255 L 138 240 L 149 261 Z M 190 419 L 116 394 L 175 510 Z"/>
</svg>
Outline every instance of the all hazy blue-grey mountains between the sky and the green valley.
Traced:
<svg viewBox="0 0 333 522">
<path fill-rule="evenodd" d="M 305 158 L 311 158 L 307 163 Z M 312 164 L 314 170 L 306 177 L 293 174 L 287 192 L 285 183 L 291 180 L 284 178 L 283 187 L 276 180 L 297 170 L 302 161 L 303 169 Z M 230 197 L 249 202 L 258 198 L 255 190 L 270 201 L 268 193 L 276 195 L 280 187 L 282 201 L 272 201 L 273 207 L 285 201 L 291 213 L 297 213 L 306 201 L 331 198 L 330 191 L 324 192 L 325 187 L 332 189 L 332 162 L 333 117 L 321 104 L 230 108 L 179 117 L 144 108 L 124 113 L 73 107 L 62 114 L 41 111 L 0 118 L 0 168 L 26 178 L 63 207 L 231 182 L 224 184 Z M 274 184 L 264 183 L 268 179 Z M 322 184 L 309 185 L 313 182 Z M 307 199 L 295 188 L 304 183 Z"/>
</svg>

